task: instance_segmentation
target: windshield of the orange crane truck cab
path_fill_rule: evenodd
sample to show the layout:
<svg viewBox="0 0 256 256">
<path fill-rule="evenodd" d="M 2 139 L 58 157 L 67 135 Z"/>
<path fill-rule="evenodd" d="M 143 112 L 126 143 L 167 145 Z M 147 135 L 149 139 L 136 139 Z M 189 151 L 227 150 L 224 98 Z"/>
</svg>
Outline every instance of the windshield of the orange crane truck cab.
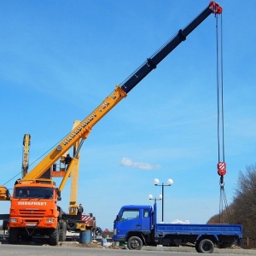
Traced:
<svg viewBox="0 0 256 256">
<path fill-rule="evenodd" d="M 53 189 L 50 188 L 33 188 L 33 187 L 22 187 L 15 188 L 14 198 L 53 198 Z"/>
</svg>

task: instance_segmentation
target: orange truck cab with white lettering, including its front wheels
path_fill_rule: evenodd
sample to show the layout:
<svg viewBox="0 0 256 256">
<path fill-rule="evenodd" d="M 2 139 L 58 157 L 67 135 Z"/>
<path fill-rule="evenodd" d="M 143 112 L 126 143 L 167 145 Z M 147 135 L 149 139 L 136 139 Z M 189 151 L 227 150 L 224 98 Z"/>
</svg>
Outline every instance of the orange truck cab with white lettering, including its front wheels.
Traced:
<svg viewBox="0 0 256 256">
<path fill-rule="evenodd" d="M 20 237 L 37 235 L 49 236 L 50 245 L 62 241 L 64 237 L 60 235 L 66 234 L 67 222 L 57 207 L 60 200 L 60 190 L 52 181 L 17 183 L 11 197 L 9 242 L 18 243 Z"/>
</svg>

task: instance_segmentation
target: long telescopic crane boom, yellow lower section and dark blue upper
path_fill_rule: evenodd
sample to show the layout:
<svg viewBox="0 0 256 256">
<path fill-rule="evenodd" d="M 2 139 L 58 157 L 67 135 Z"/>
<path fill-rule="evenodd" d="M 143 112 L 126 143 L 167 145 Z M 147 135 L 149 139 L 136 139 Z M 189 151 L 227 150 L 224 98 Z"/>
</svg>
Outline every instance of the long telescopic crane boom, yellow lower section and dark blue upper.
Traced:
<svg viewBox="0 0 256 256">
<path fill-rule="evenodd" d="M 210 2 L 207 9 L 203 10 L 195 20 L 192 20 L 188 26 L 184 29 L 180 29 L 170 41 L 168 41 L 160 50 L 158 50 L 152 57 L 148 58 L 131 76 L 126 79 L 120 86 L 116 86 L 113 94 L 108 96 L 102 104 L 89 116 L 87 116 L 77 127 L 71 131 L 67 137 L 65 137 L 61 143 L 54 148 L 38 166 L 35 166 L 31 172 L 27 173 L 22 181 L 31 181 L 40 178 L 44 172 L 46 172 L 50 166 L 52 166 L 61 155 L 67 152 L 80 138 L 86 139 L 91 128 L 102 119 L 102 117 L 108 113 L 118 102 L 120 102 L 127 93 L 132 90 L 141 80 L 143 80 L 148 73 L 150 73 L 157 65 L 162 61 L 166 55 L 169 55 L 178 44 L 183 42 L 186 37 L 192 32 L 197 26 L 201 24 L 209 15 L 219 15 L 222 13 L 222 8 L 218 3 Z"/>
</svg>

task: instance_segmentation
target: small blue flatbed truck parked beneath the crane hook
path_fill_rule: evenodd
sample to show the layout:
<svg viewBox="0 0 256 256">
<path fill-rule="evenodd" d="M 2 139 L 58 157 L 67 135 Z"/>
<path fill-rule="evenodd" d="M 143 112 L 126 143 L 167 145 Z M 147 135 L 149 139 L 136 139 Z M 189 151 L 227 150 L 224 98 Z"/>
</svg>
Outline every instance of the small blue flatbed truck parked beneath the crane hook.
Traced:
<svg viewBox="0 0 256 256">
<path fill-rule="evenodd" d="M 177 247 L 194 244 L 198 253 L 213 253 L 214 247 L 240 245 L 240 224 L 157 224 L 156 203 L 124 206 L 113 222 L 113 241 L 127 242 L 130 250 L 143 246 Z"/>
</svg>

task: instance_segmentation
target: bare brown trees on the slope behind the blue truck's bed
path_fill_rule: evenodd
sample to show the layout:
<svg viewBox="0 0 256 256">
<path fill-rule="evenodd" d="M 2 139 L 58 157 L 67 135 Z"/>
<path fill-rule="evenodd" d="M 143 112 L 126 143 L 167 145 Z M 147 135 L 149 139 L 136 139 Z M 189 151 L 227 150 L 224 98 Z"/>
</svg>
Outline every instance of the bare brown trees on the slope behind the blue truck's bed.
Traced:
<svg viewBox="0 0 256 256">
<path fill-rule="evenodd" d="M 209 219 L 211 223 L 242 224 L 243 237 L 256 239 L 256 165 L 247 166 L 246 172 L 239 172 L 233 202 Z"/>
</svg>

